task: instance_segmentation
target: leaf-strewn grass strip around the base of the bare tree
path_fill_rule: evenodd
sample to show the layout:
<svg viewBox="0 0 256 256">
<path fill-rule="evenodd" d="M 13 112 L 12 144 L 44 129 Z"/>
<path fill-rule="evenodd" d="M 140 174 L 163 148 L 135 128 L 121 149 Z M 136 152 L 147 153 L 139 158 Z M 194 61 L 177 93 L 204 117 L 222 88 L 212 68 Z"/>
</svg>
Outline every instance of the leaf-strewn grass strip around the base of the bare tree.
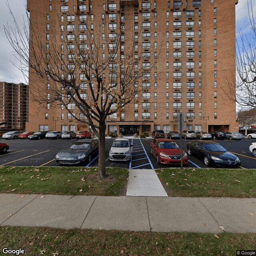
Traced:
<svg viewBox="0 0 256 256">
<path fill-rule="evenodd" d="M 100 179 L 98 168 L 0 167 L 0 193 L 125 196 L 128 170 L 106 172 Z"/>
</svg>

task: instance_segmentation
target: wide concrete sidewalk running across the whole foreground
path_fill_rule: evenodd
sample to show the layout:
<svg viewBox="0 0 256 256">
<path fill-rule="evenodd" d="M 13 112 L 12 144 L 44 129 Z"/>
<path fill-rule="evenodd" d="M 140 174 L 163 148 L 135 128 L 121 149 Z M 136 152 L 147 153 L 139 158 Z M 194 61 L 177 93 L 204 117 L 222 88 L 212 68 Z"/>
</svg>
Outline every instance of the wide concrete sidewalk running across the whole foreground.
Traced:
<svg viewBox="0 0 256 256">
<path fill-rule="evenodd" d="M 0 194 L 0 226 L 256 232 L 256 198 Z"/>
</svg>

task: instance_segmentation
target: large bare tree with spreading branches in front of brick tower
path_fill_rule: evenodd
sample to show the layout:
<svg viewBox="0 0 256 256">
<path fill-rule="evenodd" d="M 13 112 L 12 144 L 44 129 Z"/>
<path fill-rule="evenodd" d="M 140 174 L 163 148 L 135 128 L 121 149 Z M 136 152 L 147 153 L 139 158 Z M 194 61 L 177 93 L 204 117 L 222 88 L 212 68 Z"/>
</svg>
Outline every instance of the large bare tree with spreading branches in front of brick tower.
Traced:
<svg viewBox="0 0 256 256">
<path fill-rule="evenodd" d="M 150 43 L 142 42 L 141 28 L 134 37 L 134 16 L 126 13 L 126 7 L 111 16 L 113 23 L 100 11 L 94 12 L 93 22 L 75 13 L 67 13 L 63 21 L 56 13 L 56 19 L 51 17 L 45 24 L 40 17 L 46 12 L 39 8 L 42 13 L 38 19 L 27 17 L 29 30 L 19 27 L 10 10 L 15 26 L 4 27 L 16 52 L 14 65 L 25 75 L 29 71 L 30 97 L 43 107 L 60 105 L 98 136 L 100 177 L 106 176 L 106 118 L 114 113 L 122 115 L 125 106 L 137 100 L 145 89 L 142 81 L 150 82 L 150 70 L 156 62 L 154 56 L 143 54 Z M 49 79 L 46 93 L 42 84 Z"/>
</svg>

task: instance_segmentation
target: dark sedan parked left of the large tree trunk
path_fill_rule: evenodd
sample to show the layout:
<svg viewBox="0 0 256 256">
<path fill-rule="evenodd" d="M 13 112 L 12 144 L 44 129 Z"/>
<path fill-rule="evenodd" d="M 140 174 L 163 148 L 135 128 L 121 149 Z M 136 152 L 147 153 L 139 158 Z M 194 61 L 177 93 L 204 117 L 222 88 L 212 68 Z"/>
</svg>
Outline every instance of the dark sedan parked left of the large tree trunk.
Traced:
<svg viewBox="0 0 256 256">
<path fill-rule="evenodd" d="M 83 139 L 74 143 L 70 148 L 60 150 L 55 161 L 58 164 L 80 164 L 91 162 L 92 157 L 99 154 L 99 142 L 94 139 Z"/>
</svg>

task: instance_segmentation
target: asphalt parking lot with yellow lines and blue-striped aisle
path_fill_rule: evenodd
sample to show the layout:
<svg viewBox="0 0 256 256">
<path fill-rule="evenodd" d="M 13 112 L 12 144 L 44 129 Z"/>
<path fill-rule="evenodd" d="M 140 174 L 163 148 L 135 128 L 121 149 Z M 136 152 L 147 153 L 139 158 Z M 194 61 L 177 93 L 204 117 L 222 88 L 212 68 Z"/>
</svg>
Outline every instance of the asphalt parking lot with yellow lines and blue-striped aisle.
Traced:
<svg viewBox="0 0 256 256">
<path fill-rule="evenodd" d="M 130 162 L 111 162 L 108 159 L 110 145 L 114 141 L 113 138 L 106 138 L 106 166 L 122 167 L 128 169 L 158 169 L 165 168 L 162 164 L 157 164 L 156 159 L 150 154 L 151 138 L 132 138 L 132 159 Z M 73 140 L 0 140 L 10 145 L 7 154 L 0 154 L 0 166 L 59 166 L 55 162 L 55 155 L 61 149 L 71 146 L 76 139 Z M 182 140 L 182 148 L 186 151 L 186 144 L 191 140 Z M 220 143 L 228 151 L 236 154 L 241 161 L 241 168 L 255 168 L 256 158 L 249 151 L 249 146 L 256 139 L 244 138 L 243 140 L 215 140 Z M 180 146 L 180 140 L 176 140 Z M 205 168 L 202 160 L 194 156 L 188 156 L 188 164 L 185 167 Z M 98 166 L 98 157 L 91 162 L 86 163 L 88 167 Z M 168 166 L 178 167 L 178 166 Z"/>
</svg>

